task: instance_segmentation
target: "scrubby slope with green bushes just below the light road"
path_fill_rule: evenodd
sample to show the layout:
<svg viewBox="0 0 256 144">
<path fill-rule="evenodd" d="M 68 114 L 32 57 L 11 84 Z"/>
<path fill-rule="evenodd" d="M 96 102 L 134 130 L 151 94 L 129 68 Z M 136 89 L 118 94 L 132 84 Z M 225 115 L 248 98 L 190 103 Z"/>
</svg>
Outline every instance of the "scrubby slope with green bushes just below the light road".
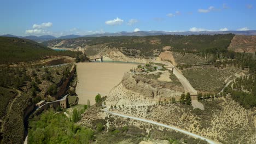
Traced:
<svg viewBox="0 0 256 144">
<path fill-rule="evenodd" d="M 92 143 L 143 143 L 145 141 L 166 143 L 168 140 L 177 140 L 179 143 L 190 144 L 207 143 L 164 127 L 109 115 L 95 106 L 85 111 L 82 115 L 82 121 L 79 123 L 97 131 L 96 142 Z M 104 125 L 103 130 L 98 131 L 97 125 Z M 104 133 L 106 131 L 108 132 Z"/>
</svg>

